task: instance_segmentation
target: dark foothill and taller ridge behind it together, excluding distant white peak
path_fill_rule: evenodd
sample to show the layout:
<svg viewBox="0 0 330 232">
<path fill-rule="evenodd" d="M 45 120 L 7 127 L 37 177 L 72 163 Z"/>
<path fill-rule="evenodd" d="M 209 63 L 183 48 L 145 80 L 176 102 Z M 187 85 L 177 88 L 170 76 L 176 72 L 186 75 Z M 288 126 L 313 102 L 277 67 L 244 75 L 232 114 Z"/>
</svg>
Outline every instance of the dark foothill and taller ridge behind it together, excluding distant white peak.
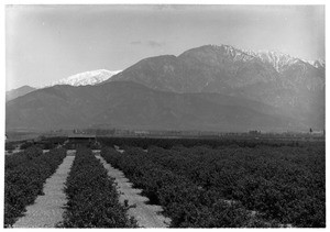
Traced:
<svg viewBox="0 0 330 232">
<path fill-rule="evenodd" d="M 316 67 L 318 66 L 318 68 Z M 324 128 L 324 63 L 205 45 L 144 58 L 94 86 L 56 85 L 7 103 L 7 129 L 242 132 Z"/>
</svg>

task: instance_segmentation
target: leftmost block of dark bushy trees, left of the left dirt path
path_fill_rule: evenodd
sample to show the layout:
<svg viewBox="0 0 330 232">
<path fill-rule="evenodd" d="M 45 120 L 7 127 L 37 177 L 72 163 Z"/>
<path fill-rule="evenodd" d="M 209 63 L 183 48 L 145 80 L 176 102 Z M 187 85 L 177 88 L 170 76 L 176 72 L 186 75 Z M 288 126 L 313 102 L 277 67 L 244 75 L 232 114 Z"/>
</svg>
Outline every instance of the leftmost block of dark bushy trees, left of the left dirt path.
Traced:
<svg viewBox="0 0 330 232">
<path fill-rule="evenodd" d="M 6 156 L 4 227 L 11 227 L 23 216 L 25 207 L 43 194 L 45 180 L 52 176 L 66 156 L 66 150 L 48 153 L 31 147 L 20 154 Z"/>
</svg>

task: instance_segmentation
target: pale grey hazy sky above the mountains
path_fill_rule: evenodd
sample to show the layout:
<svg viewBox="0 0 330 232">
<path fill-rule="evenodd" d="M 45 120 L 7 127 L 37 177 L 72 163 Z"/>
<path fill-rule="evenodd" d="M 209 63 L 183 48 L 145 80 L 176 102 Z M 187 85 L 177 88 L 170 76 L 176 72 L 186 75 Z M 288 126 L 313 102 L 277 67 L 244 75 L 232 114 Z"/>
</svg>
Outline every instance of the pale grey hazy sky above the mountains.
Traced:
<svg viewBox="0 0 330 232">
<path fill-rule="evenodd" d="M 316 5 L 9 5 L 7 90 L 206 44 L 324 58 Z"/>
</svg>

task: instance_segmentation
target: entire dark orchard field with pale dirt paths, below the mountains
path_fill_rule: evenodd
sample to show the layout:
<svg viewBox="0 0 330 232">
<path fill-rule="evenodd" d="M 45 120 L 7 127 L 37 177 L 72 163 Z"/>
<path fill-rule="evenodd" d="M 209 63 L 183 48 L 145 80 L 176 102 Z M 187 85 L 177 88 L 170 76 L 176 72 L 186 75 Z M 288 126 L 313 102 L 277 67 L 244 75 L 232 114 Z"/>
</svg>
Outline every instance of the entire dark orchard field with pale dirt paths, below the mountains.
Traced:
<svg viewBox="0 0 330 232">
<path fill-rule="evenodd" d="M 55 185 L 51 179 L 67 158 L 67 174 L 56 187 L 65 200 L 54 228 L 326 227 L 323 142 L 98 142 L 23 143 L 21 152 L 7 155 L 4 227 L 25 228 L 20 223 L 30 209 L 43 212 L 40 199 L 47 198 L 47 185 Z M 77 147 L 67 150 L 72 146 Z M 53 148 L 43 153 L 45 147 Z"/>
</svg>

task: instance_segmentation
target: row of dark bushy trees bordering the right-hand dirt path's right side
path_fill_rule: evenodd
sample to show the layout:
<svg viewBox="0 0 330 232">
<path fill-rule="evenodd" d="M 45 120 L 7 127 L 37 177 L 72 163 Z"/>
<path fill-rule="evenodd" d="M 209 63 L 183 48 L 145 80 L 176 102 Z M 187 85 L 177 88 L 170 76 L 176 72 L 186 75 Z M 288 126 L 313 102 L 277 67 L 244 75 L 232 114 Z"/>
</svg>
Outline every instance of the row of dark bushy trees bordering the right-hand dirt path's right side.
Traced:
<svg viewBox="0 0 330 232">
<path fill-rule="evenodd" d="M 161 205 L 173 228 L 240 228 L 274 224 L 252 216 L 240 202 L 228 202 L 215 190 L 206 190 L 183 175 L 177 175 L 148 159 L 145 152 L 131 148 L 123 154 L 103 148 L 101 156 L 124 172 L 142 188 L 150 203 Z"/>
</svg>

